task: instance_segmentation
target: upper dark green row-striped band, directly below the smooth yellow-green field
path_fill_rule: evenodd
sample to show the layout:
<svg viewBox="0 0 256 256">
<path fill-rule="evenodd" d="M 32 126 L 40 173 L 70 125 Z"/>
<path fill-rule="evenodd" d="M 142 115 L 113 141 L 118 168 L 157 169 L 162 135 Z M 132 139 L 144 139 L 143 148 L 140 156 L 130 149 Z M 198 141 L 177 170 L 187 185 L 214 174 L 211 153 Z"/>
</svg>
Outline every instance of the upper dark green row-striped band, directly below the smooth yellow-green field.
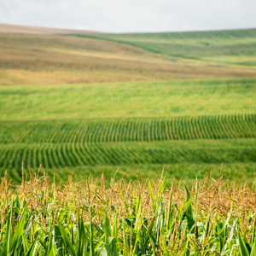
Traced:
<svg viewBox="0 0 256 256">
<path fill-rule="evenodd" d="M 0 143 L 111 143 L 256 137 L 256 114 L 2 121 Z"/>
</svg>

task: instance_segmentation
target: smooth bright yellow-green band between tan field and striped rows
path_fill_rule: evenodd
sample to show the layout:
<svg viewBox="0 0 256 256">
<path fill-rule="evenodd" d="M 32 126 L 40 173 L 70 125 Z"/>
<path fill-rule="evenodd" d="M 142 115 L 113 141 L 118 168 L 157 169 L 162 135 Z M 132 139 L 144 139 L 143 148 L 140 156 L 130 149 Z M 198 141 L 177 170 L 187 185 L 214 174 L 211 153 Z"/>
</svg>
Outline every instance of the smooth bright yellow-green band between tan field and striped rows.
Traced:
<svg viewBox="0 0 256 256">
<path fill-rule="evenodd" d="M 0 87 L 0 119 L 255 113 L 255 79 Z"/>
</svg>

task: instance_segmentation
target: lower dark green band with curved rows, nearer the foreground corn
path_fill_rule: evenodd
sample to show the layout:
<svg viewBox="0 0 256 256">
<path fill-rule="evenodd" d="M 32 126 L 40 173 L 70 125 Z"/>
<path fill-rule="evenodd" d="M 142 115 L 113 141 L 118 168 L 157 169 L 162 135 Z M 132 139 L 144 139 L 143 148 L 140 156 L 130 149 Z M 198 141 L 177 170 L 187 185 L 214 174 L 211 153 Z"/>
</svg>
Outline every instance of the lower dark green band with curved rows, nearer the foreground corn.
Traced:
<svg viewBox="0 0 256 256">
<path fill-rule="evenodd" d="M 21 175 L 26 168 L 46 169 L 131 164 L 256 162 L 255 139 L 162 143 L 10 144 L 0 149 L 0 170 Z"/>
</svg>

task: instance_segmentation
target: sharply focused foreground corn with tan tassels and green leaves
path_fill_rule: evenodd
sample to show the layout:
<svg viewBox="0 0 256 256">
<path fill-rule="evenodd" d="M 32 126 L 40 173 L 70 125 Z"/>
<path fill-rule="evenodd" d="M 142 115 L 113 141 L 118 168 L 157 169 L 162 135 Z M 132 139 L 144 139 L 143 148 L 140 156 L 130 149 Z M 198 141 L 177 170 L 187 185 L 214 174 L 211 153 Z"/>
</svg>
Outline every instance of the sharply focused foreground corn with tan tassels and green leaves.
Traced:
<svg viewBox="0 0 256 256">
<path fill-rule="evenodd" d="M 23 170 L 24 172 L 24 170 Z M 221 173 L 185 185 L 104 175 L 0 183 L 0 255 L 256 255 L 256 191 Z"/>
</svg>

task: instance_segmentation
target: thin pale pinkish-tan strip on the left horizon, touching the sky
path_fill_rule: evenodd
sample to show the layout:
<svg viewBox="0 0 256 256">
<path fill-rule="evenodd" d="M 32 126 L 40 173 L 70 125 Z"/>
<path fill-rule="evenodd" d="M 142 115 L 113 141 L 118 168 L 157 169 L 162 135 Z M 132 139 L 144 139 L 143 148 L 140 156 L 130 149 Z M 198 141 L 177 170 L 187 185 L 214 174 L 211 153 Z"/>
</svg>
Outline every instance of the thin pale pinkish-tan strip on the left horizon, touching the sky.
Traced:
<svg viewBox="0 0 256 256">
<path fill-rule="evenodd" d="M 15 33 L 15 34 L 34 34 L 34 35 L 50 35 L 50 34 L 69 34 L 71 32 L 88 32 L 83 30 L 71 30 L 71 29 L 59 29 L 59 28 L 48 28 L 40 26 L 18 26 L 0 24 L 0 33 Z M 95 33 L 95 32 L 92 32 Z"/>
</svg>

